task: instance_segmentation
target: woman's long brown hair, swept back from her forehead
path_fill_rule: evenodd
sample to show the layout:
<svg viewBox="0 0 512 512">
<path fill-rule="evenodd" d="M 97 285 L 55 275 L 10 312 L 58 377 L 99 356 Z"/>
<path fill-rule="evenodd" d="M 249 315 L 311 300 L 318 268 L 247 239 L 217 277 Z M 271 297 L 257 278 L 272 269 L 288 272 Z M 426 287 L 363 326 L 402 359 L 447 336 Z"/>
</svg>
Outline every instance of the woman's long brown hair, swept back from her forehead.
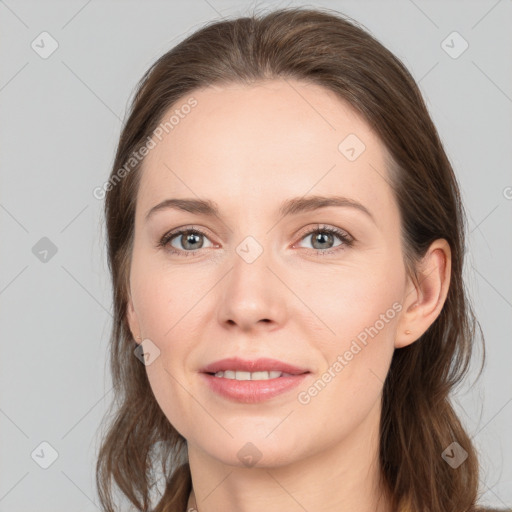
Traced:
<svg viewBox="0 0 512 512">
<path fill-rule="evenodd" d="M 118 170 L 171 106 L 197 88 L 288 77 L 334 91 L 387 148 L 409 275 L 417 282 L 416 264 L 434 240 L 450 244 L 451 283 L 444 307 L 421 339 L 395 350 L 384 383 L 380 464 L 393 510 L 462 512 L 476 503 L 477 455 L 449 400 L 468 371 L 475 327 L 480 329 L 462 278 L 466 218 L 453 169 L 418 86 L 399 59 L 335 11 L 287 8 L 211 22 L 159 58 L 138 85 L 105 201 L 114 300 L 110 364 L 117 400 L 96 478 L 107 512 L 114 510 L 112 480 L 144 511 L 181 512 L 191 488 L 186 440 L 158 406 L 145 367 L 133 355 L 126 320 L 141 163 L 122 179 L 113 178 L 119 178 Z M 441 456 L 454 441 L 468 454 L 456 470 Z M 150 488 L 157 462 L 166 485 L 153 508 Z"/>
</svg>

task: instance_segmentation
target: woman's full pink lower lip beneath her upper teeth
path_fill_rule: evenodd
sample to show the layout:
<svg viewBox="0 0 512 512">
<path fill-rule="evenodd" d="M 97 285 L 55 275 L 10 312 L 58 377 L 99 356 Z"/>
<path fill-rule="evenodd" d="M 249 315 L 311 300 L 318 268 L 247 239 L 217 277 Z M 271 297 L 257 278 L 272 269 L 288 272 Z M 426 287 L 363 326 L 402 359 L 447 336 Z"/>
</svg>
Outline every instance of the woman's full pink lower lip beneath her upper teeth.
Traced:
<svg viewBox="0 0 512 512">
<path fill-rule="evenodd" d="M 308 375 L 292 375 L 268 380 L 236 380 L 201 373 L 210 389 L 219 395 L 246 404 L 263 402 L 297 387 Z"/>
</svg>

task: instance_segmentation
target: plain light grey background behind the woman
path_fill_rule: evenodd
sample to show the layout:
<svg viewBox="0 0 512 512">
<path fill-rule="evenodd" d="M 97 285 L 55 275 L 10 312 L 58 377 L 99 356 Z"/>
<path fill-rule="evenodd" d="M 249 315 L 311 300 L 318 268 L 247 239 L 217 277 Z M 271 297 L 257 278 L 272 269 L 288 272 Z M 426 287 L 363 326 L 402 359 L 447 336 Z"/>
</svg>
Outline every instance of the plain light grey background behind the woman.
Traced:
<svg viewBox="0 0 512 512">
<path fill-rule="evenodd" d="M 92 191 L 108 178 L 149 65 L 203 23 L 254 5 L 305 4 L 0 1 L 0 512 L 99 509 L 111 291 Z M 467 283 L 488 359 L 454 401 L 481 454 L 482 501 L 511 507 L 512 1 L 307 5 L 355 18 L 404 61 L 459 177 Z M 47 59 L 31 47 L 43 31 L 59 44 Z M 453 31 L 469 43 L 456 59 L 441 46 Z M 33 252 L 43 237 L 57 249 L 47 261 Z M 48 469 L 35 462 L 51 456 L 43 441 L 58 453 Z"/>
</svg>

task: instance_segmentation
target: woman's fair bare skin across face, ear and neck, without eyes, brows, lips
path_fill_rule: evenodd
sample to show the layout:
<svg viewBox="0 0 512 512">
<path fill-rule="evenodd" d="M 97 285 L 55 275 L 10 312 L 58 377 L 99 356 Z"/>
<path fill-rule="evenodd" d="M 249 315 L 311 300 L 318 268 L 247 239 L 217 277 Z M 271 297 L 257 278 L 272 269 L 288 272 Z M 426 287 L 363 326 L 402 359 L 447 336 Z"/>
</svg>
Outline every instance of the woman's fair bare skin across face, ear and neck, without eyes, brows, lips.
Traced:
<svg viewBox="0 0 512 512">
<path fill-rule="evenodd" d="M 394 350 L 417 340 L 442 309 L 450 248 L 436 240 L 419 267 L 419 286 L 407 277 L 386 149 L 332 92 L 272 80 L 208 87 L 193 97 L 197 106 L 144 162 L 127 313 L 134 338 L 160 350 L 146 370 L 160 407 L 187 439 L 189 506 L 388 512 L 377 463 L 382 387 Z M 348 134 L 366 146 L 354 161 L 338 150 Z M 304 195 L 357 200 L 375 222 L 349 207 L 279 217 L 283 201 Z M 146 221 L 168 198 L 210 199 L 220 215 L 163 209 Z M 334 236 L 313 245 L 306 232 L 317 224 L 344 230 L 354 244 L 343 247 Z M 207 232 L 195 255 L 157 246 L 183 226 Z M 249 235 L 263 248 L 250 264 L 236 251 Z M 186 242 L 177 236 L 172 245 L 185 253 Z M 297 394 L 393 303 L 401 306 L 394 318 L 308 404 L 299 403 Z M 235 355 L 271 357 L 311 373 L 299 389 L 235 403 L 198 375 Z M 253 467 L 237 456 L 247 442 L 262 455 Z"/>
</svg>

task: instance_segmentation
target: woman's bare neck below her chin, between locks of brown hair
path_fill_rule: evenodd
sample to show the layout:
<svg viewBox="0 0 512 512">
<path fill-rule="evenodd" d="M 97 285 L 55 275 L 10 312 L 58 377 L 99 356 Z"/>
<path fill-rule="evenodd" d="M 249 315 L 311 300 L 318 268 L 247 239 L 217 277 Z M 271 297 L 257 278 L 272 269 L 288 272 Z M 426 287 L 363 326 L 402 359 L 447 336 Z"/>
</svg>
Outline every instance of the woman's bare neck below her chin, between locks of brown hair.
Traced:
<svg viewBox="0 0 512 512">
<path fill-rule="evenodd" d="M 224 464 L 189 444 L 193 490 L 187 512 L 390 512 L 380 483 L 379 414 L 377 407 L 349 437 L 288 464 Z"/>
</svg>

